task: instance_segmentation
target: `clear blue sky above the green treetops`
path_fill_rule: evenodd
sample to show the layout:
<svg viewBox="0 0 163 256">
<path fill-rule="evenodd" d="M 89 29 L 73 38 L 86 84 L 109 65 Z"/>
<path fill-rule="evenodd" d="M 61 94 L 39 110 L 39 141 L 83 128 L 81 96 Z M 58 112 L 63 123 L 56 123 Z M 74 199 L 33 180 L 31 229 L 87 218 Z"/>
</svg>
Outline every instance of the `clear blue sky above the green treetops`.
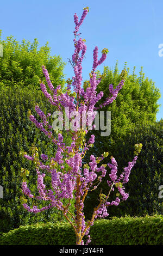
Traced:
<svg viewBox="0 0 163 256">
<path fill-rule="evenodd" d="M 82 15 L 83 7 L 90 11 L 83 22 L 80 32 L 86 40 L 87 52 L 83 62 L 83 79 L 92 69 L 92 52 L 98 46 L 99 52 L 108 48 L 109 54 L 103 66 L 118 69 L 124 62 L 136 74 L 141 66 L 145 76 L 155 82 L 160 89 L 163 103 L 163 56 L 159 56 L 159 45 L 163 44 L 163 1 L 162 0 L 7 0 L 0 2 L 0 29 L 2 39 L 13 35 L 17 41 L 37 38 L 39 46 L 49 42 L 52 55 L 60 55 L 64 62 L 71 58 L 73 46 L 73 15 Z M 162 45 L 163 46 L 163 45 Z M 163 51 L 162 51 L 163 53 Z M 65 67 L 66 78 L 72 77 L 69 63 Z M 163 104 L 157 120 L 163 118 Z"/>
</svg>

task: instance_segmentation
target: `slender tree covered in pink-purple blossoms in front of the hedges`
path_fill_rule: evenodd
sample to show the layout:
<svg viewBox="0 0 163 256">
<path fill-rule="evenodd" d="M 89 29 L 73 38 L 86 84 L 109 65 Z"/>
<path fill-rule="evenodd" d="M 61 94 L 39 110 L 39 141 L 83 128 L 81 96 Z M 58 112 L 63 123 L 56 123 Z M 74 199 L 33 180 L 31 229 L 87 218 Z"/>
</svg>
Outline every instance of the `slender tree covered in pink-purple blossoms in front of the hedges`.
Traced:
<svg viewBox="0 0 163 256">
<path fill-rule="evenodd" d="M 129 180 L 130 170 L 134 166 L 137 155 L 140 153 L 142 146 L 141 144 L 136 144 L 135 157 L 133 161 L 129 162 L 128 166 L 124 168 L 120 176 L 117 176 L 117 162 L 114 157 L 111 156 L 111 163 L 101 163 L 101 161 L 107 157 L 109 153 L 104 153 L 99 157 L 91 155 L 89 164 L 82 163 L 86 151 L 89 150 L 90 147 L 93 147 L 93 143 L 95 142 L 94 135 L 91 135 L 88 141 L 86 141 L 85 135 L 97 114 L 97 108 L 95 105 L 103 97 L 103 92 L 100 92 L 99 94 L 96 92 L 96 88 L 103 78 L 103 75 L 101 77 L 97 77 L 96 68 L 98 65 L 101 65 L 104 62 L 106 59 L 106 54 L 108 53 L 108 50 L 104 48 L 102 51 L 102 57 L 98 59 L 98 47 L 95 47 L 93 51 L 93 66 L 90 73 L 90 80 L 84 83 L 82 88 L 82 61 L 86 52 L 86 45 L 85 40 L 82 40 L 82 38 L 79 37 L 80 34 L 78 34 L 78 31 L 88 11 L 88 7 L 84 8 L 80 21 L 78 20 L 77 14 L 74 14 L 74 23 L 76 26 L 73 32 L 73 41 L 75 50 L 72 59 L 70 60 L 70 63 L 73 66 L 74 76 L 72 77 L 72 80 L 68 79 L 66 81 L 66 93 L 62 92 L 60 86 L 54 89 L 45 66 L 42 66 L 42 71 L 46 77 L 46 81 L 52 95 L 47 92 L 45 84 L 40 81 L 43 94 L 47 97 L 49 102 L 58 109 L 59 120 L 64 120 L 62 123 L 63 127 L 66 127 L 67 125 L 65 121 L 66 119 L 71 121 L 71 128 L 65 129 L 68 135 L 71 136 L 71 145 L 66 145 L 64 143 L 64 138 L 61 131 L 56 131 L 57 138 L 54 136 L 54 132 L 52 132 L 53 126 L 49 125 L 48 122 L 48 118 L 51 116 L 51 114 L 48 113 L 45 115 L 39 106 L 36 105 L 35 111 L 38 115 L 40 115 L 42 123 L 39 123 L 39 121 L 36 120 L 30 111 L 29 119 L 36 125 L 37 128 L 44 132 L 49 139 L 52 139 L 52 142 L 57 145 L 57 152 L 55 157 L 52 157 L 51 159 L 48 159 L 47 155 L 41 154 L 41 160 L 39 158 L 37 148 L 34 146 L 32 147 L 32 156 L 27 155 L 25 152 L 21 153 L 24 157 L 26 157 L 26 159 L 33 161 L 36 166 L 37 189 L 39 191 L 39 196 L 34 196 L 30 192 L 25 179 L 25 176 L 29 173 L 28 170 L 22 168 L 23 193 L 34 200 L 42 199 L 47 201 L 47 206 L 41 209 L 39 209 L 36 205 L 30 207 L 27 205 L 27 203 L 23 204 L 24 208 L 29 212 L 34 213 L 48 210 L 52 207 L 56 207 L 62 211 L 66 220 L 70 222 L 74 229 L 77 245 L 84 245 L 83 237 L 85 235 L 87 236 L 86 244 L 91 241 L 89 230 L 97 217 L 104 218 L 108 216 L 107 208 L 109 206 L 118 205 L 120 202 L 123 202 L 128 198 L 128 194 L 124 191 L 124 184 L 126 184 L 126 182 Z M 77 37 L 79 38 L 78 40 Z M 100 105 L 99 108 L 110 104 L 116 99 L 118 92 L 124 84 L 125 77 L 126 70 L 123 70 L 121 73 L 121 82 L 115 89 L 113 88 L 112 84 L 110 84 L 110 97 L 108 97 L 104 101 L 103 105 Z M 71 88 L 73 89 L 73 92 Z M 75 113 L 76 118 L 73 119 L 72 113 Z M 84 115 L 83 113 L 89 114 Z M 89 118 L 90 115 L 92 117 L 91 119 Z M 80 122 L 81 117 L 82 122 Z M 61 128 L 60 130 L 62 130 Z M 95 129 L 95 125 L 92 125 L 92 129 Z M 102 192 L 99 194 L 98 204 L 92 212 L 91 220 L 86 221 L 83 212 L 84 200 L 87 193 L 95 190 L 102 182 L 102 178 L 108 172 L 107 168 L 111 170 L 107 181 L 108 194 L 103 194 Z M 46 186 L 43 181 L 45 173 L 42 173 L 41 170 L 46 170 L 47 175 L 51 176 L 51 189 L 46 190 Z M 99 173 L 99 175 L 97 175 L 97 173 Z M 109 202 L 109 195 L 111 191 L 114 191 L 114 188 L 118 190 L 116 199 Z M 74 214 L 72 214 L 69 208 L 71 205 L 71 200 L 74 197 L 76 199 L 76 211 Z M 66 204 L 64 203 L 64 200 L 62 200 L 64 198 L 66 199 Z"/>
</svg>

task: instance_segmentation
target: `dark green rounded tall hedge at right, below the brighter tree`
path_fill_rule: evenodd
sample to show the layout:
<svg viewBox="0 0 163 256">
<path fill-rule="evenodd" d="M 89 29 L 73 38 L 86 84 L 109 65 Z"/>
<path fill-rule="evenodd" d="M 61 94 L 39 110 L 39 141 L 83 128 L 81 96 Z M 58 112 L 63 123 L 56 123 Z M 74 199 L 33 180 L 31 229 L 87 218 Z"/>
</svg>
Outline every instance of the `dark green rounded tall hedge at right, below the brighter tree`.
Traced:
<svg viewBox="0 0 163 256">
<path fill-rule="evenodd" d="M 117 206 L 108 208 L 111 216 L 144 216 L 146 214 L 163 214 L 163 198 L 159 197 L 159 186 L 163 185 L 163 120 L 153 125 L 138 125 L 135 129 L 127 133 L 117 141 L 112 147 L 109 156 L 114 156 L 118 164 L 118 173 L 122 173 L 123 167 L 134 157 L 134 145 L 142 143 L 142 150 L 137 158 L 136 164 L 129 176 L 126 184 L 128 199 Z M 108 170 L 109 173 L 109 170 Z M 91 208 L 97 203 L 98 194 L 108 191 L 106 180 L 99 186 L 96 192 L 92 191 L 90 197 L 86 198 L 85 215 L 90 218 Z M 118 192 L 118 191 L 117 191 Z M 110 194 L 110 200 L 112 200 Z M 114 198 L 115 199 L 115 198 Z"/>
</svg>

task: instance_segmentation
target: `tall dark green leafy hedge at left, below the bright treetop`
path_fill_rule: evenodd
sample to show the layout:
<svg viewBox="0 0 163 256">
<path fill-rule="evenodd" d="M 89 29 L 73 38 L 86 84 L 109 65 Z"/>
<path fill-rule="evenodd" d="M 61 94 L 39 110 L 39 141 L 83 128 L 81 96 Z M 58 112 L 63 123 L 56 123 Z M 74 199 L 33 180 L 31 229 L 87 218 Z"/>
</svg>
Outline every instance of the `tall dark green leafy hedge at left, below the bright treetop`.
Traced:
<svg viewBox="0 0 163 256">
<path fill-rule="evenodd" d="M 49 209 L 37 215 L 27 212 L 22 206 L 27 199 L 21 191 L 24 174 L 28 176 L 28 185 L 32 193 L 36 194 L 36 171 L 32 161 L 22 157 L 19 152 L 26 151 L 29 155 L 29 148 L 34 143 L 40 154 L 48 155 L 49 159 L 54 157 L 56 147 L 43 132 L 27 117 L 28 109 L 41 121 L 35 112 L 36 102 L 42 111 L 54 112 L 54 106 L 50 105 L 45 97 L 42 97 L 41 90 L 31 87 L 2 87 L 0 93 L 0 185 L 3 186 L 3 199 L 0 199 L 0 231 L 6 232 L 23 224 L 36 222 L 47 222 L 63 220 L 57 209 Z M 49 117 L 49 124 L 52 125 L 52 117 Z M 28 170 L 28 171 L 27 171 Z M 49 177 L 45 182 L 48 182 Z M 37 195 L 37 194 L 36 194 Z M 40 203 L 44 206 L 46 202 Z M 32 200 L 29 200 L 32 205 Z"/>
</svg>

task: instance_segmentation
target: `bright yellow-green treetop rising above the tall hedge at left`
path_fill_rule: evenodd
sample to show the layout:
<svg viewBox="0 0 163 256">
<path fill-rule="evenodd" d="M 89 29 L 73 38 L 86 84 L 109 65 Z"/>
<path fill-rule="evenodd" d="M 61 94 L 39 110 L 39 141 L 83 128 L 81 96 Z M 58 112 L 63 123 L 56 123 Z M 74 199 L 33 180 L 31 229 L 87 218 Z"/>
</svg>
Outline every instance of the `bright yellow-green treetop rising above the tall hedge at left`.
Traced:
<svg viewBox="0 0 163 256">
<path fill-rule="evenodd" d="M 37 39 L 30 41 L 16 41 L 13 36 L 8 36 L 6 40 L 1 40 L 3 45 L 3 57 L 0 58 L 0 87 L 4 86 L 32 86 L 40 88 L 39 80 L 45 82 L 41 66 L 45 65 L 48 69 L 51 82 L 54 87 L 61 84 L 64 86 L 63 69 L 65 63 L 59 56 L 50 56 L 48 43 L 38 47 Z"/>
</svg>

